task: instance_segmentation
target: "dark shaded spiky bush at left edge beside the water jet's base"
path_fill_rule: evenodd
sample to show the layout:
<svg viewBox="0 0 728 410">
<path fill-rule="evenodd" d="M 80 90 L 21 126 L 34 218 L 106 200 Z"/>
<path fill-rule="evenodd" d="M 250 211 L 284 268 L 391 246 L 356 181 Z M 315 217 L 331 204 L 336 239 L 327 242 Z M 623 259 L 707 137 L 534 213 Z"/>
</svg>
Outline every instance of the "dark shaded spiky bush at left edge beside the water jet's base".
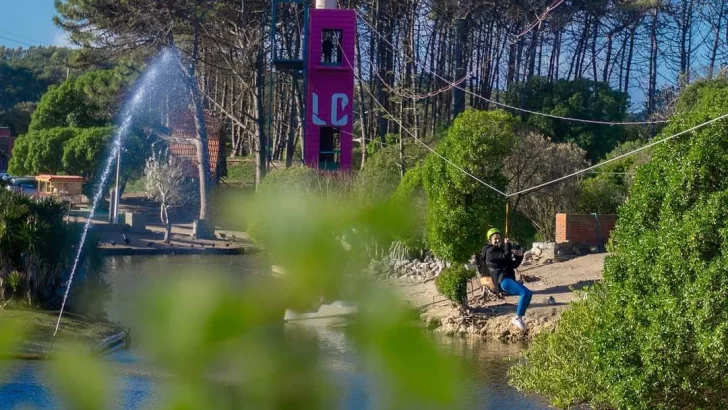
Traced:
<svg viewBox="0 0 728 410">
<path fill-rule="evenodd" d="M 0 278 L 32 306 L 60 307 L 81 238 L 81 226 L 66 224 L 64 213 L 58 202 L 0 191 Z M 109 289 L 97 245 L 98 237 L 89 234 L 69 299 L 76 313 L 102 314 Z"/>
</svg>

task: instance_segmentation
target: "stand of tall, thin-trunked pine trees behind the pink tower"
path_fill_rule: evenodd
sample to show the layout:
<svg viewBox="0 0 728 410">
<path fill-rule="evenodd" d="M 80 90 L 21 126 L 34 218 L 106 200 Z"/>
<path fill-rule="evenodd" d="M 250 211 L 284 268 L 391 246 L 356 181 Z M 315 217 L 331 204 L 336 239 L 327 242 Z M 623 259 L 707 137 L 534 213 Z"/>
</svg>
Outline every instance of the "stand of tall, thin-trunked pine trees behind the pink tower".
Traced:
<svg viewBox="0 0 728 410">
<path fill-rule="evenodd" d="M 289 6 L 281 4 L 271 24 L 271 3 L 261 0 L 58 0 L 55 21 L 90 61 L 141 61 L 171 43 L 179 46 L 197 57 L 208 108 L 232 121 L 231 152 L 257 152 L 251 122 L 270 119 L 270 156 L 288 157 L 290 164 L 302 138 L 305 99 L 300 82 L 267 69 L 271 38 L 279 51 L 302 53 L 303 13 L 289 13 Z M 494 102 L 581 119 L 661 120 L 686 85 L 725 75 L 726 0 L 563 2 L 533 25 L 547 6 L 514 0 L 346 4 L 357 9 L 359 22 L 352 61 L 362 90 L 354 102 L 357 135 L 382 140 L 405 127 L 419 138 L 433 137 L 460 107 L 484 110 Z M 269 92 L 277 97 L 260 95 Z M 265 107 L 258 107 L 260 100 Z M 653 137 L 660 127 L 522 119 L 555 142 L 576 143 L 592 163 L 618 143 Z"/>
</svg>

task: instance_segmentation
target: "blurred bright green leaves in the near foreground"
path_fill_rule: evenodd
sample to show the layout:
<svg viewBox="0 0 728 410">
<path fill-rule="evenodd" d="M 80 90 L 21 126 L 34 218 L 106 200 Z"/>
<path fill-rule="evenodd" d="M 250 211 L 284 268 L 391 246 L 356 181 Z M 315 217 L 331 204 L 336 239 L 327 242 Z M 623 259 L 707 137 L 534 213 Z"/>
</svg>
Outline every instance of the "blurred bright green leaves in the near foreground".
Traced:
<svg viewBox="0 0 728 410">
<path fill-rule="evenodd" d="M 459 407 L 460 359 L 439 351 L 403 302 L 360 273 L 368 263 L 359 252 L 363 244 L 412 228 L 407 206 L 363 205 L 305 189 L 259 192 L 242 206 L 238 201 L 227 215 L 241 222 L 254 217 L 266 257 L 288 274 L 228 281 L 215 272 L 190 272 L 184 280 L 158 278 L 146 287 L 134 343 L 172 381 L 155 408 L 341 408 L 341 380 L 324 366 L 319 346 L 289 337 L 283 323 L 285 309 L 309 308 L 323 294 L 359 307 L 346 331 L 374 375 L 375 408 Z M 105 362 L 68 346 L 56 350 L 52 375 L 69 408 L 105 409 L 116 402 Z"/>
</svg>

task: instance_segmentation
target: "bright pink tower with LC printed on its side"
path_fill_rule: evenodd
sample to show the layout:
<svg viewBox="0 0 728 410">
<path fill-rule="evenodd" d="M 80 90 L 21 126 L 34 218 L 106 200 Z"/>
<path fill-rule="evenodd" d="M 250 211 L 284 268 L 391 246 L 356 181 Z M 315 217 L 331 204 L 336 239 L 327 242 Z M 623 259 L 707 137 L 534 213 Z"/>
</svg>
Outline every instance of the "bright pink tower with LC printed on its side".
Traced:
<svg viewBox="0 0 728 410">
<path fill-rule="evenodd" d="M 304 162 L 349 171 L 354 132 L 356 12 L 317 0 L 309 12 Z"/>
</svg>

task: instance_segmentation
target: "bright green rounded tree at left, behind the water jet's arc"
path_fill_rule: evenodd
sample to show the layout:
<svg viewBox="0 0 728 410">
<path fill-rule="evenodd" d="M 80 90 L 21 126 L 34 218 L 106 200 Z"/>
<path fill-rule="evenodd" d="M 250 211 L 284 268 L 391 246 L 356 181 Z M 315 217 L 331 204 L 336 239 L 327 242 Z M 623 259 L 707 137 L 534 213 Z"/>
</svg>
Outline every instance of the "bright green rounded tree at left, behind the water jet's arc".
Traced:
<svg viewBox="0 0 728 410">
<path fill-rule="evenodd" d="M 29 132 L 15 142 L 9 171 L 80 175 L 95 186 L 102 161 L 110 153 L 114 116 L 135 75 L 132 67 L 120 64 L 51 86 L 33 112 Z M 150 142 L 138 127 L 125 137 L 123 149 L 122 184 L 141 176 L 151 153 Z"/>
</svg>

